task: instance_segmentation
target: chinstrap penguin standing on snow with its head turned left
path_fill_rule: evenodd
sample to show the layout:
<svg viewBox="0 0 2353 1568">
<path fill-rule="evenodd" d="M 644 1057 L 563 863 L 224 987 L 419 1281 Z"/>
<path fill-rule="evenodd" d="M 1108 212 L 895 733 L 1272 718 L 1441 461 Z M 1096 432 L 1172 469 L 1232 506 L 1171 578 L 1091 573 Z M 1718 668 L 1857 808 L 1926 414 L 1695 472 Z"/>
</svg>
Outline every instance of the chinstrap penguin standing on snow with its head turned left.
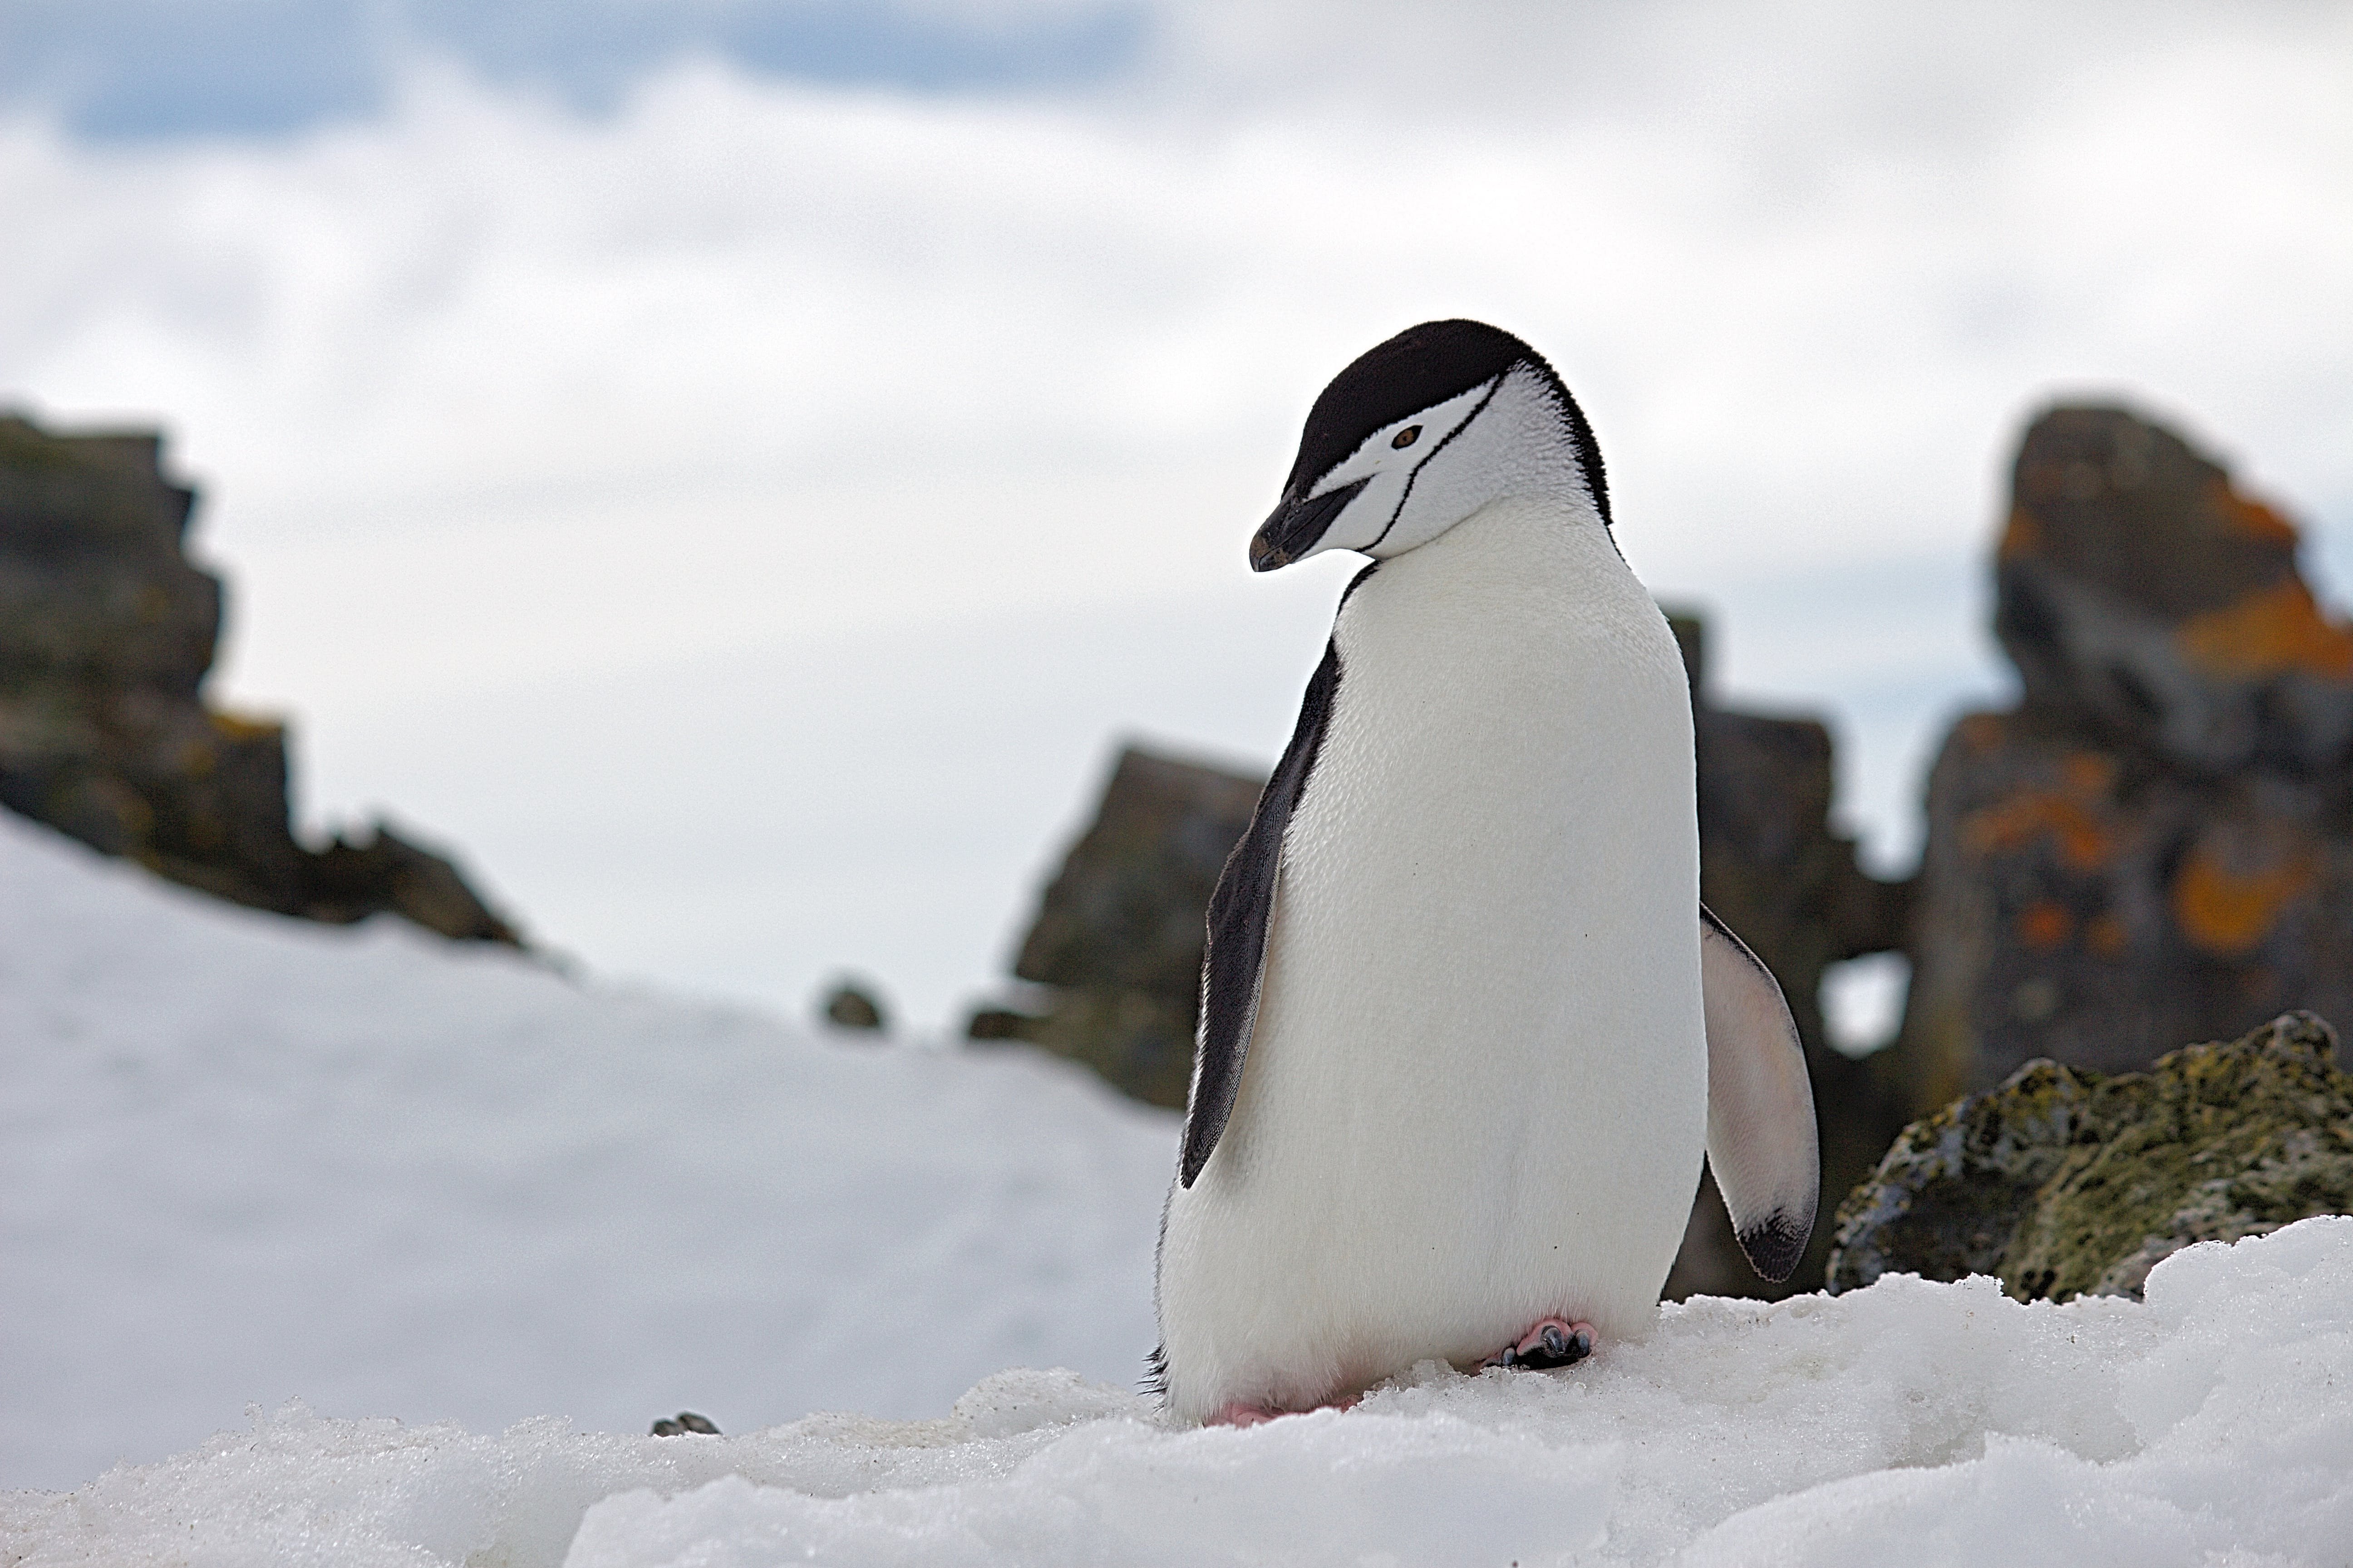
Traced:
<svg viewBox="0 0 2353 1568">
<path fill-rule="evenodd" d="M 1153 1375 L 1179 1420 L 1640 1333 L 1706 1150 L 1786 1279 L 1814 1103 L 1699 903 L 1692 708 L 1577 400 L 1426 322 L 1308 411 L 1271 571 L 1372 557 L 1209 903 Z"/>
</svg>

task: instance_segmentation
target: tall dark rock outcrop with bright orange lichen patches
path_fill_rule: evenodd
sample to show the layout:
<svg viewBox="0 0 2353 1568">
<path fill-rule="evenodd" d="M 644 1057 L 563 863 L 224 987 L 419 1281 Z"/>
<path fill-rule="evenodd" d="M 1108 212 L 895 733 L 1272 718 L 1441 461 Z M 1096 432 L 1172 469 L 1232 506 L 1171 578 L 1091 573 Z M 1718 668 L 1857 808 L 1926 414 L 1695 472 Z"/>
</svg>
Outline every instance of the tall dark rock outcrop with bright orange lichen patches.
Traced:
<svg viewBox="0 0 2353 1568">
<path fill-rule="evenodd" d="M 2052 409 L 1995 590 L 2021 701 L 1962 717 L 1929 776 L 1901 1103 L 2348 1016 L 2353 630 L 2294 527 L 2125 409 Z"/>
</svg>

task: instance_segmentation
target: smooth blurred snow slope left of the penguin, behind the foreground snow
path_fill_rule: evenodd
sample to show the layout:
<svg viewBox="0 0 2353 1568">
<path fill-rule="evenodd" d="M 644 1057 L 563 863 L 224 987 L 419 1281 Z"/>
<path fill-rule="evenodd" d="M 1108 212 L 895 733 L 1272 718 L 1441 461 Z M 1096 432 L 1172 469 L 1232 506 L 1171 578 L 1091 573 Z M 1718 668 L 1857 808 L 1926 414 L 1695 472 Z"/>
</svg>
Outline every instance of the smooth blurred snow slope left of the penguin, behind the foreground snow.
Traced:
<svg viewBox="0 0 2353 1568">
<path fill-rule="evenodd" d="M 1176 1119 L 1026 1048 L 235 910 L 7 813 L 0 1039 L 0 1486 L 289 1396 L 734 1432 L 1153 1347 Z"/>
</svg>

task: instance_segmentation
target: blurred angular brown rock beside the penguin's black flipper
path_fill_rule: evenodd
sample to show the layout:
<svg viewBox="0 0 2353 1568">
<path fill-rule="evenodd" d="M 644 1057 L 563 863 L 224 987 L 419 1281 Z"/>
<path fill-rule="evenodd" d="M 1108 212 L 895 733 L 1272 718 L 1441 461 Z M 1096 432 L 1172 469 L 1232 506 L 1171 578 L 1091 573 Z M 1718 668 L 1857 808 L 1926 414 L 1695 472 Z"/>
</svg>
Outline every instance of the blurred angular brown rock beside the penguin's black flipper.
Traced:
<svg viewBox="0 0 2353 1568">
<path fill-rule="evenodd" d="M 1264 776 L 1122 750 L 1014 959 L 1016 978 L 1052 987 L 1047 1011 L 984 1009 L 969 1037 L 1026 1039 L 1184 1107 L 1205 912 L 1261 788 Z"/>
</svg>

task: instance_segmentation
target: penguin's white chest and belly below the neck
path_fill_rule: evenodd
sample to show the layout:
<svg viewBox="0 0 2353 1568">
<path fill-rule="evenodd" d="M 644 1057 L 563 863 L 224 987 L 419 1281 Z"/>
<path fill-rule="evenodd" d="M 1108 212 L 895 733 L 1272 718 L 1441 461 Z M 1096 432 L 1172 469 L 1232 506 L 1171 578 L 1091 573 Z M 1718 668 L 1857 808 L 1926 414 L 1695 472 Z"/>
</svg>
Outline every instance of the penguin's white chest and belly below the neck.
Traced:
<svg viewBox="0 0 2353 1568">
<path fill-rule="evenodd" d="M 1638 1331 L 1706 1124 L 1689 701 L 1600 527 L 1497 503 L 1334 639 L 1240 1093 L 1160 1281 L 1172 1375 L 1273 1396 L 1553 1312 Z"/>
</svg>

